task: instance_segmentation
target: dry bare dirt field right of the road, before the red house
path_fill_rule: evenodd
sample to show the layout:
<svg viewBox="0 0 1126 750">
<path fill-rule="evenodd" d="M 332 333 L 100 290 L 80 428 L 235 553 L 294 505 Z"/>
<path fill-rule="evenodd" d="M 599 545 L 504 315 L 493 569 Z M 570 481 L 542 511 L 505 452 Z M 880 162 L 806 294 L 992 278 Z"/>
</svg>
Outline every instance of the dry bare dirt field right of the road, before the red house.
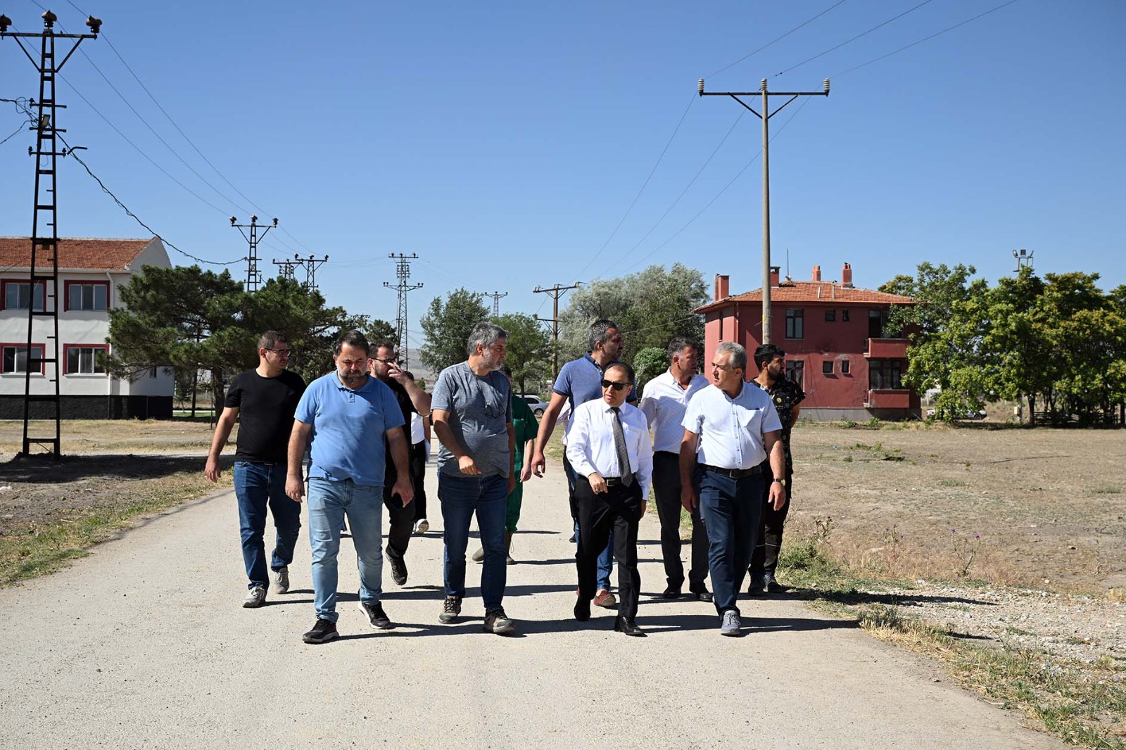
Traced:
<svg viewBox="0 0 1126 750">
<path fill-rule="evenodd" d="M 793 452 L 787 536 L 821 535 L 861 570 L 1126 587 L 1126 430 L 803 423 Z"/>
</svg>

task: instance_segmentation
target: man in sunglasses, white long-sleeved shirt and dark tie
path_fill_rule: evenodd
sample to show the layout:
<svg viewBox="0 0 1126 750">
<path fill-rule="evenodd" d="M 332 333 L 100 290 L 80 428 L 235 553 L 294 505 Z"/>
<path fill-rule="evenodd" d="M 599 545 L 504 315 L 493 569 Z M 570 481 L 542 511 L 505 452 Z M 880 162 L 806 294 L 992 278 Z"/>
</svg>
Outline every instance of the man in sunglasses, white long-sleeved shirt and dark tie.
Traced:
<svg viewBox="0 0 1126 750">
<path fill-rule="evenodd" d="M 614 630 L 645 635 L 637 627 L 637 523 L 645 515 L 653 473 L 649 422 L 636 407 L 626 403 L 633 391 L 634 372 L 625 363 L 602 373 L 602 398 L 574 408 L 568 431 L 566 457 L 578 475 L 574 486 L 579 511 L 579 600 L 574 618 L 590 619 L 590 600 L 598 588 L 598 555 L 614 532 L 614 556 L 618 561 L 618 616 Z"/>
</svg>

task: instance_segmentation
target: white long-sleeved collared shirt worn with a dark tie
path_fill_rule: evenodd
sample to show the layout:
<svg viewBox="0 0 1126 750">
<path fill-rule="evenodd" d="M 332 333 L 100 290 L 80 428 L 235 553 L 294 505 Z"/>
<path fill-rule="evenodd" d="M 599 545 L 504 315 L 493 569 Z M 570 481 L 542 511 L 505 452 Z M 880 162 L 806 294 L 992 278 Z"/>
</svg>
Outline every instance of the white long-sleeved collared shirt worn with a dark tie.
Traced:
<svg viewBox="0 0 1126 750">
<path fill-rule="evenodd" d="M 653 476 L 649 422 L 641 409 L 633 404 L 622 404 L 620 409 L 629 471 L 641 483 L 641 497 L 649 498 L 649 483 Z M 614 445 L 614 408 L 602 399 L 575 407 L 566 438 L 566 457 L 575 473 L 589 476 L 598 472 L 602 479 L 622 476 L 624 472 L 618 465 L 618 452 Z"/>
</svg>

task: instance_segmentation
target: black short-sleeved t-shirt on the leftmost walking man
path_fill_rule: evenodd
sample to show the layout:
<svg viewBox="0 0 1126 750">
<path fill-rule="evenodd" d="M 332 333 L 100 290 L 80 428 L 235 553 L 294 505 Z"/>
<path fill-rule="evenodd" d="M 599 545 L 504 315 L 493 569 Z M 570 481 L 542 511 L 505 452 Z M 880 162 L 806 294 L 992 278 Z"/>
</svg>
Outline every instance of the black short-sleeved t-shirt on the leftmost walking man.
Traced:
<svg viewBox="0 0 1126 750">
<path fill-rule="evenodd" d="M 286 463 L 293 413 L 304 392 L 305 381 L 288 369 L 277 377 L 262 377 L 253 369 L 235 375 L 223 400 L 224 407 L 239 410 L 235 459 Z"/>
</svg>

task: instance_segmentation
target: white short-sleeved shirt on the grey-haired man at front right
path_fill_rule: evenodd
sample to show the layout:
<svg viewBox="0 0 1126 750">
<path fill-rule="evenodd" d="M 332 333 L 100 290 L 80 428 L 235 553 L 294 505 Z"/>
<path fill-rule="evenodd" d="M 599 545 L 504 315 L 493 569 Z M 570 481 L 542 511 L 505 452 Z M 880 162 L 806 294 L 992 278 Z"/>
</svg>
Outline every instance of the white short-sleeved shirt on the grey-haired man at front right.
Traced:
<svg viewBox="0 0 1126 750">
<path fill-rule="evenodd" d="M 751 468 L 767 457 L 765 435 L 781 429 L 767 392 L 749 383 L 734 399 L 717 385 L 688 402 L 681 426 L 700 436 L 697 461 L 720 468 Z"/>
</svg>

